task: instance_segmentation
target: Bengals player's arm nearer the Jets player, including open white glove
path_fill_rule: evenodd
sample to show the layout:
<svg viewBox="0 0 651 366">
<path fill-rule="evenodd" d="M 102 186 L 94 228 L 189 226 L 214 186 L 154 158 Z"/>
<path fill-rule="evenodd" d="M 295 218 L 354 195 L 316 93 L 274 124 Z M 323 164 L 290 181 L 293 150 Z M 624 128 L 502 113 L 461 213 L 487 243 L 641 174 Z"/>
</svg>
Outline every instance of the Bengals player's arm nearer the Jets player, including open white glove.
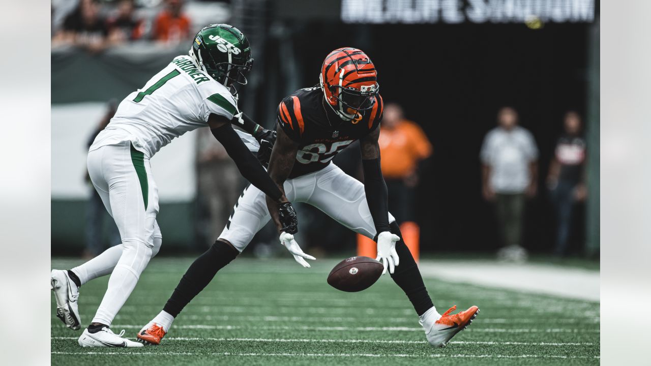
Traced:
<svg viewBox="0 0 651 366">
<path fill-rule="evenodd" d="M 280 127 L 277 129 L 277 134 L 278 137 L 273 145 L 273 150 L 271 151 L 268 172 L 271 180 L 277 184 L 279 190 L 283 191 L 284 194 L 283 184 L 294 167 L 296 152 L 298 152 L 298 143 L 292 141 L 292 139 L 290 139 Z M 296 240 L 294 240 L 294 234 L 298 232 L 298 221 L 296 220 L 294 208 L 291 208 L 291 212 L 287 212 L 287 210 L 283 210 L 282 204 L 274 202 L 269 198 L 269 196 L 267 196 L 267 208 L 271 214 L 271 219 L 273 219 L 273 222 L 280 233 L 281 244 L 283 244 L 283 246 L 294 255 L 296 262 L 301 264 L 303 267 L 309 268 L 310 265 L 305 261 L 305 259 L 314 260 L 315 258 L 303 253 L 301 247 L 299 247 Z M 288 225 L 288 220 L 284 217 L 288 215 L 294 216 L 294 219 L 289 222 L 290 225 Z"/>
</svg>

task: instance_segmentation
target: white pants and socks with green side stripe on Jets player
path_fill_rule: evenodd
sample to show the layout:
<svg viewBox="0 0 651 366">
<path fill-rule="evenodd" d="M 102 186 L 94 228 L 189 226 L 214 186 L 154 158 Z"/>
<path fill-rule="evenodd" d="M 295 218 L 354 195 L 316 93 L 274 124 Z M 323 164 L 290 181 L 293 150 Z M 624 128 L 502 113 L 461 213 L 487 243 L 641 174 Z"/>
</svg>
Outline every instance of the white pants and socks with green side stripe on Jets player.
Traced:
<svg viewBox="0 0 651 366">
<path fill-rule="evenodd" d="M 158 188 L 148 157 L 135 150 L 130 141 L 90 151 L 88 171 L 115 220 L 122 244 L 72 270 L 82 284 L 111 272 L 108 289 L 92 319 L 110 326 L 161 246 L 162 236 L 156 223 Z"/>
</svg>

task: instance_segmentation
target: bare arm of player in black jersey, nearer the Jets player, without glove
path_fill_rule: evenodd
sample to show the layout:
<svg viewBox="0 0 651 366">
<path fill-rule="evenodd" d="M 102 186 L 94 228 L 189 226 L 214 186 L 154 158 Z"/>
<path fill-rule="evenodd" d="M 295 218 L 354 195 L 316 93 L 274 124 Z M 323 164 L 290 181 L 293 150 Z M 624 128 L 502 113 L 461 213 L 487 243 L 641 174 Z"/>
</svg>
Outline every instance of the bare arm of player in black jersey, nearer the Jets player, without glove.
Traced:
<svg viewBox="0 0 651 366">
<path fill-rule="evenodd" d="M 278 186 L 278 189 L 283 192 L 284 198 L 283 184 L 290 173 L 292 173 L 292 168 L 296 161 L 298 144 L 292 141 L 292 139 L 284 133 L 282 128 L 278 128 L 276 132 L 278 137 L 273 145 L 273 150 L 271 150 L 271 159 L 269 161 L 269 169 L 267 172 L 269 173 L 271 180 Z M 287 199 L 284 198 L 284 201 L 287 201 Z M 278 203 L 271 200 L 268 196 L 267 208 L 271 215 L 271 219 L 273 219 L 273 223 L 275 223 L 277 229 L 280 230 L 283 225 L 279 218 Z"/>
</svg>

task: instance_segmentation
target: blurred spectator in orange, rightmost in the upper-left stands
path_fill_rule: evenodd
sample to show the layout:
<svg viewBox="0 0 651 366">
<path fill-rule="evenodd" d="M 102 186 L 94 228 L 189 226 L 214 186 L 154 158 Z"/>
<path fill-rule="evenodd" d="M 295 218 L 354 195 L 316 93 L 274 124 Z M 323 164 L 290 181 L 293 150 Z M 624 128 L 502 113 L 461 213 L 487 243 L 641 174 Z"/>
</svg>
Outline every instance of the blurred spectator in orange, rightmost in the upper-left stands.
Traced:
<svg viewBox="0 0 651 366">
<path fill-rule="evenodd" d="M 191 36 L 190 18 L 183 13 L 182 7 L 183 0 L 167 0 L 167 9 L 154 20 L 152 36 L 155 40 L 176 44 Z"/>
</svg>

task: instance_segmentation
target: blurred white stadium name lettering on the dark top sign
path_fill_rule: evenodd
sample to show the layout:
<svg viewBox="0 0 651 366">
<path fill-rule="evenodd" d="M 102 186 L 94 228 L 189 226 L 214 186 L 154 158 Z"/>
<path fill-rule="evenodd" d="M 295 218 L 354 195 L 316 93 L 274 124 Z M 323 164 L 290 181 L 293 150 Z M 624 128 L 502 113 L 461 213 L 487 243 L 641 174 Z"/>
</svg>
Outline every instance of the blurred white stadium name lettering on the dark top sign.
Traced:
<svg viewBox="0 0 651 366">
<path fill-rule="evenodd" d="M 594 0 L 342 0 L 344 23 L 589 23 Z"/>
</svg>

